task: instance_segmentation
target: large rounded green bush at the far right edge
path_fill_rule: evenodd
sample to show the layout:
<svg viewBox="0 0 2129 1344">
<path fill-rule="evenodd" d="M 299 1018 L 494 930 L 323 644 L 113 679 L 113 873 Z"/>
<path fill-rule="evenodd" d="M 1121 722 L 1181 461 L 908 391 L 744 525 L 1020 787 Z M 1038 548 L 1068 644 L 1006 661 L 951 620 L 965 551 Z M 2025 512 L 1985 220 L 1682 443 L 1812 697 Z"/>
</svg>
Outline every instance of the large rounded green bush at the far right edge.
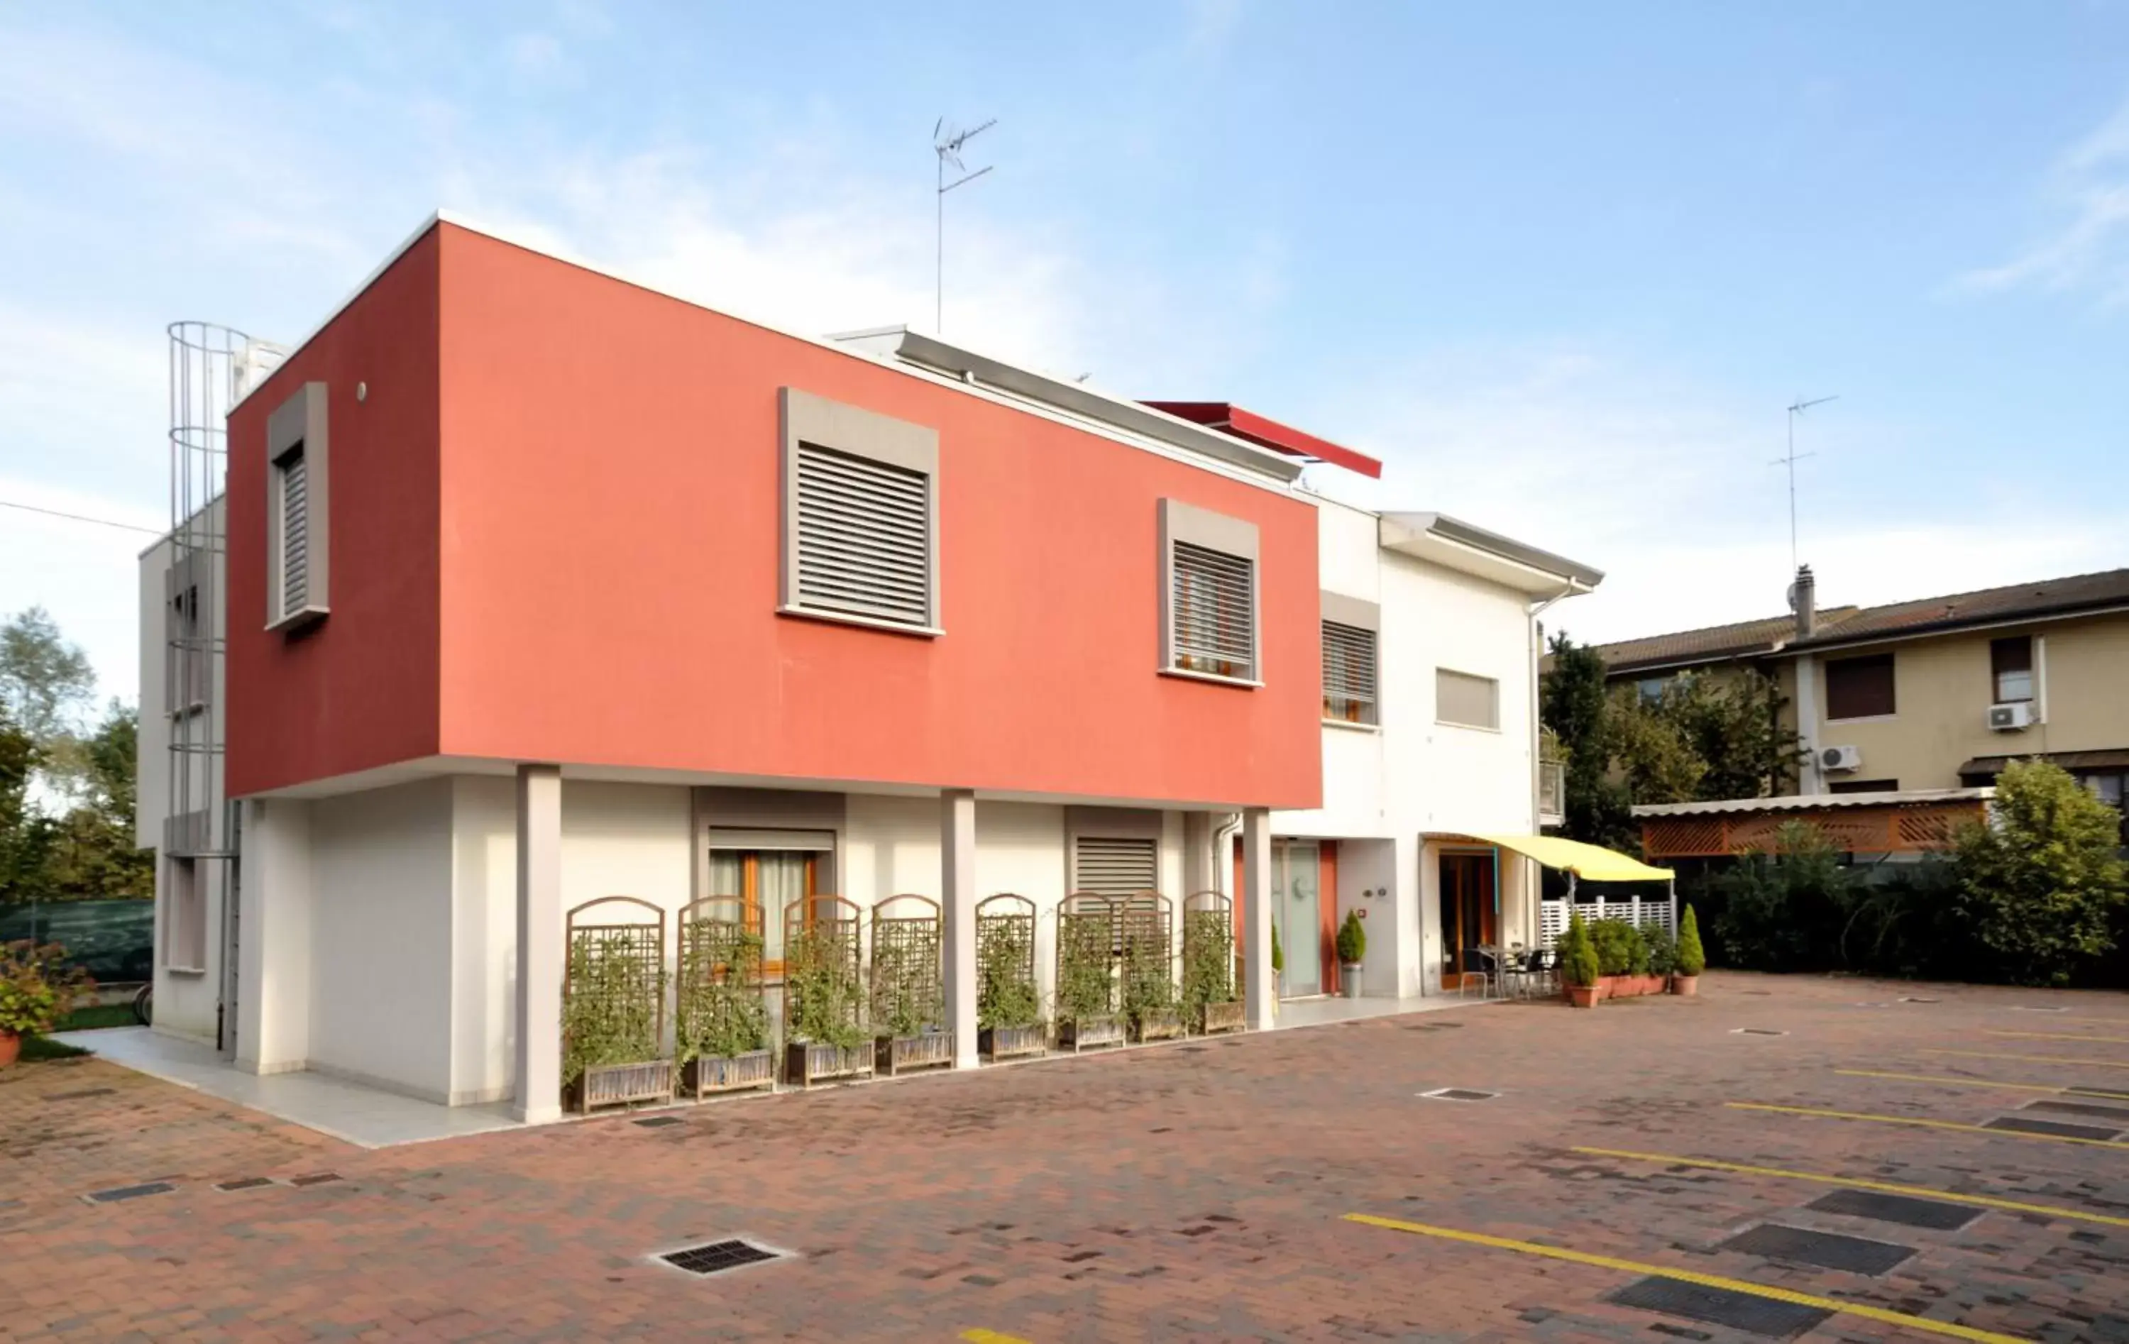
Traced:
<svg viewBox="0 0 2129 1344">
<path fill-rule="evenodd" d="M 1959 909 L 1993 969 L 2018 984 L 2067 984 L 2103 956 L 2129 899 L 2118 843 L 2120 814 L 2069 771 L 2003 767 L 1991 822 L 1959 835 Z"/>
</svg>

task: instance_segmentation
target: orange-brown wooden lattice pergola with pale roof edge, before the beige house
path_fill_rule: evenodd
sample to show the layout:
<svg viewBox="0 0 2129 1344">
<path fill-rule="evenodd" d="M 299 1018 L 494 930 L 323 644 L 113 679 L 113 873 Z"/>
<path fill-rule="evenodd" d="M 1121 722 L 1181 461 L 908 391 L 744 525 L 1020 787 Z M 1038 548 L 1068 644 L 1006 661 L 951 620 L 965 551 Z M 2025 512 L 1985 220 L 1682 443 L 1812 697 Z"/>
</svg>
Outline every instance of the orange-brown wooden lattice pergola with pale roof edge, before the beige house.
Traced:
<svg viewBox="0 0 2129 1344">
<path fill-rule="evenodd" d="M 1793 794 L 1658 803 L 1635 807 L 1633 816 L 1650 861 L 1767 852 L 1786 822 L 1810 822 L 1850 854 L 1925 854 L 1952 848 L 1963 824 L 1988 816 L 1993 797 L 1993 788 Z"/>
</svg>

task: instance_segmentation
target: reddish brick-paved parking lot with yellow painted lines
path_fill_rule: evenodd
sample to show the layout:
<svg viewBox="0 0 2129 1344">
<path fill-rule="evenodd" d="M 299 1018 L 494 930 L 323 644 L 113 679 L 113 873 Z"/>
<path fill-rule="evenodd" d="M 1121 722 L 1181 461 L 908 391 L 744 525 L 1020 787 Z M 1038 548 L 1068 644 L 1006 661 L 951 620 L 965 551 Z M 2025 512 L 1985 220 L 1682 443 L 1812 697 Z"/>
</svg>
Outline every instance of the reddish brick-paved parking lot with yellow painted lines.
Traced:
<svg viewBox="0 0 2129 1344">
<path fill-rule="evenodd" d="M 2129 999 L 1701 988 L 375 1152 L 17 1067 L 0 1338 L 2129 1340 Z"/>
</svg>

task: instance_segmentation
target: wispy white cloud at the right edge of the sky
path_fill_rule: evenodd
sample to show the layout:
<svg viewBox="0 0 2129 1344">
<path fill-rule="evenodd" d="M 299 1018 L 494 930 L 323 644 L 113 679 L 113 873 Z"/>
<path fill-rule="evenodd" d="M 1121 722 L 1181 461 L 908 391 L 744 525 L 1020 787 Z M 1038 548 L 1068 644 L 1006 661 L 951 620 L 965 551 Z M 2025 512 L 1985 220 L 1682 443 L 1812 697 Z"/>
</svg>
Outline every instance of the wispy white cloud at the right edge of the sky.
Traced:
<svg viewBox="0 0 2129 1344">
<path fill-rule="evenodd" d="M 2048 175 L 2046 198 L 2061 224 L 2025 251 L 1969 271 L 1963 290 L 2091 292 L 2129 305 L 2129 102 L 2072 145 Z"/>
</svg>

